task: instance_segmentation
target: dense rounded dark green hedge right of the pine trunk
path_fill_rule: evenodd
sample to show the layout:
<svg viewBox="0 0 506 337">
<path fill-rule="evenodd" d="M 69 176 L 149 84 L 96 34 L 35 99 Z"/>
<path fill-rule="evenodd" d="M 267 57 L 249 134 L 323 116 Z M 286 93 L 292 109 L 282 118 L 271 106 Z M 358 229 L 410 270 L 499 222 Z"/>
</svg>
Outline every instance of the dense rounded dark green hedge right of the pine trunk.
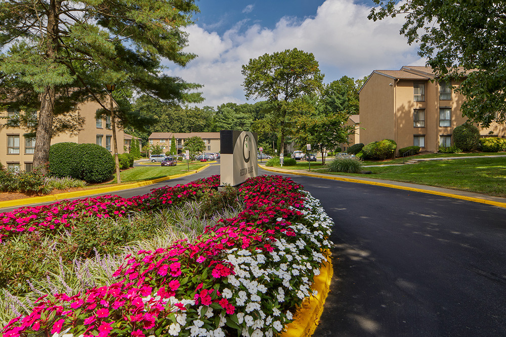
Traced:
<svg viewBox="0 0 506 337">
<path fill-rule="evenodd" d="M 114 172 L 114 158 L 96 144 L 57 143 L 49 150 L 50 174 L 86 182 L 102 182 Z M 73 145 L 72 145 L 73 144 Z M 65 153 L 63 153 L 65 151 Z"/>
</svg>

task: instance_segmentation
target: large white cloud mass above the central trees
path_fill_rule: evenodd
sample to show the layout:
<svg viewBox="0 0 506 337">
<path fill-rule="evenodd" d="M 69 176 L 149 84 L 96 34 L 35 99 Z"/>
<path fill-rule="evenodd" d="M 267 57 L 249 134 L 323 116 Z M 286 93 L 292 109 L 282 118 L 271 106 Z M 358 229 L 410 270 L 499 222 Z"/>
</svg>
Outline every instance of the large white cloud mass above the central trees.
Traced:
<svg viewBox="0 0 506 337">
<path fill-rule="evenodd" d="M 294 47 L 315 55 L 325 82 L 425 63 L 416 55 L 416 46 L 399 35 L 402 18 L 373 22 L 367 19 L 369 12 L 369 7 L 353 0 L 326 0 L 315 17 L 302 21 L 285 17 L 273 29 L 241 21 L 220 36 L 194 25 L 187 28 L 186 51 L 198 57 L 186 68 L 171 67 L 170 74 L 204 84 L 203 105 L 217 106 L 245 102 L 241 65 L 250 58 Z"/>
</svg>

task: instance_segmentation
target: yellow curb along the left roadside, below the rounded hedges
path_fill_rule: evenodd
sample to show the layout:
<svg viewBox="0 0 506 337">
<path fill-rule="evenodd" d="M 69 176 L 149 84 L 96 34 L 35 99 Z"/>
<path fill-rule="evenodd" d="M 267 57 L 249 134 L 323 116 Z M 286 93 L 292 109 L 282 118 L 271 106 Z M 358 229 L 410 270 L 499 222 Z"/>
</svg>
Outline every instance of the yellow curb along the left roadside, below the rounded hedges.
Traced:
<svg viewBox="0 0 506 337">
<path fill-rule="evenodd" d="M 88 189 L 88 190 L 82 190 L 82 191 L 75 191 L 75 192 L 67 192 L 67 193 L 60 193 L 55 194 L 52 196 L 43 196 L 43 197 L 33 197 L 28 199 L 17 199 L 17 200 L 11 200 L 11 201 L 0 201 L 0 208 L 4 207 L 14 207 L 14 206 L 23 206 L 23 205 L 30 205 L 30 204 L 38 204 L 38 203 L 46 203 L 56 200 L 63 200 L 63 199 L 70 199 L 70 198 L 76 198 L 76 197 L 84 197 L 84 196 L 91 196 L 95 194 L 102 194 L 107 192 L 114 192 L 117 190 L 123 190 L 123 189 L 130 189 L 130 188 L 137 188 L 141 186 L 147 186 L 151 184 L 155 184 L 157 182 L 163 181 L 163 180 L 170 180 L 170 179 L 176 179 L 181 178 L 190 174 L 198 173 L 202 170 L 205 170 L 210 165 L 206 164 L 197 170 L 190 171 L 187 173 L 181 173 L 181 174 L 175 174 L 166 176 L 163 178 L 157 178 L 153 180 L 146 180 L 141 182 L 135 182 L 133 184 L 128 185 L 117 185 L 117 186 L 111 186 L 111 187 L 101 187 L 101 188 L 94 188 L 94 189 Z"/>
</svg>

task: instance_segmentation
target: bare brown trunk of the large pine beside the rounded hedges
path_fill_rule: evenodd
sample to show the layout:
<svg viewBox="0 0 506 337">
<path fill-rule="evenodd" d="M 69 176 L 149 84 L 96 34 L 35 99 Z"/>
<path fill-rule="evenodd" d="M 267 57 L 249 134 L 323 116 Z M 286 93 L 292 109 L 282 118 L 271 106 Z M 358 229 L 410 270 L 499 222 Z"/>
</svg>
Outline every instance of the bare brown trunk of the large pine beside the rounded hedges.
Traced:
<svg viewBox="0 0 506 337">
<path fill-rule="evenodd" d="M 33 167 L 40 168 L 43 174 L 49 173 L 49 147 L 53 133 L 53 113 L 55 109 L 55 88 L 47 87 L 40 94 L 40 113 L 38 116 L 37 131 L 35 134 L 35 149 L 33 154 Z"/>
</svg>

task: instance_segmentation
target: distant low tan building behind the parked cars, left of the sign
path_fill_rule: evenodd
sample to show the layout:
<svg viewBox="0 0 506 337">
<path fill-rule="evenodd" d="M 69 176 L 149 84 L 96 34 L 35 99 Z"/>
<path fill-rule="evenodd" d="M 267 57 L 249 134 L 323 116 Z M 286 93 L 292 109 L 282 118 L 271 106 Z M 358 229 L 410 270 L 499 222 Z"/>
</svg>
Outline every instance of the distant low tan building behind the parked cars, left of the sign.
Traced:
<svg viewBox="0 0 506 337">
<path fill-rule="evenodd" d="M 204 141 L 205 152 L 220 152 L 220 132 L 153 132 L 148 137 L 148 141 L 150 145 L 159 145 L 167 152 L 171 150 L 172 137 L 175 137 L 176 148 L 178 153 L 181 153 L 185 139 L 195 136 L 202 138 Z"/>
</svg>

